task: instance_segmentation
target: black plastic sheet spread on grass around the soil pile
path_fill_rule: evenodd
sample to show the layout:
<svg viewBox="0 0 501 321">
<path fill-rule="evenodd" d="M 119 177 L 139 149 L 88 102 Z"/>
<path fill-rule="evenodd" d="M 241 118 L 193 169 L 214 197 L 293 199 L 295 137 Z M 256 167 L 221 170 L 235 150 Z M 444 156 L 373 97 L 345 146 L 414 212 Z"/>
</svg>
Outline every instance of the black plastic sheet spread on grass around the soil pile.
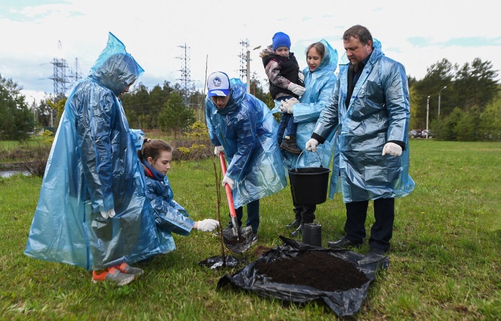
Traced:
<svg viewBox="0 0 501 321">
<path fill-rule="evenodd" d="M 357 312 L 362 301 L 367 296 L 369 285 L 374 281 L 375 274 L 381 269 L 387 269 L 389 259 L 387 256 L 367 256 L 357 252 L 339 249 L 331 250 L 300 243 L 280 236 L 284 242 L 273 250 L 263 253 L 255 262 L 247 264 L 232 275 L 224 275 L 217 283 L 217 290 L 228 284 L 235 288 L 256 292 L 261 296 L 275 297 L 286 302 L 306 303 L 310 301 L 323 301 L 339 316 L 348 316 Z M 369 281 L 361 287 L 346 291 L 323 291 L 307 285 L 294 285 L 274 283 L 269 277 L 259 274 L 254 268 L 256 262 L 273 262 L 281 258 L 294 258 L 305 251 L 324 251 L 335 257 L 352 262 L 362 271 Z"/>
</svg>

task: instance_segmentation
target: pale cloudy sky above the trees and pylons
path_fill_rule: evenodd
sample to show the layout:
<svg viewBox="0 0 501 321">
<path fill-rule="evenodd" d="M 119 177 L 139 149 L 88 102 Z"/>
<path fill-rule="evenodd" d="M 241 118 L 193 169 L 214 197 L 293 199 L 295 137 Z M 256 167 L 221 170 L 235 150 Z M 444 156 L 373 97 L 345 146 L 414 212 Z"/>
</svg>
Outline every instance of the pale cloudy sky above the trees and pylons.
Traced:
<svg viewBox="0 0 501 321">
<path fill-rule="evenodd" d="M 291 37 L 301 68 L 306 47 L 325 38 L 344 53 L 341 36 L 349 27 L 366 26 L 386 56 L 421 79 L 426 68 L 447 58 L 463 65 L 479 57 L 501 69 L 501 27 L 495 1 L 106 1 L 2 0 L 0 2 L 0 74 L 24 87 L 37 102 L 53 92 L 53 58 L 70 66 L 78 58 L 84 75 L 112 32 L 145 69 L 148 88 L 179 81 L 183 52 L 190 47 L 191 79 L 203 88 L 208 73 L 238 77 L 241 39 L 250 50 L 271 44 L 275 32 Z M 58 42 L 62 50 L 58 50 Z M 250 69 L 265 79 L 259 50 Z M 501 77 L 498 76 L 498 79 Z M 446 84 L 444 84 L 446 85 Z M 430 93 L 431 94 L 431 93 Z"/>
</svg>

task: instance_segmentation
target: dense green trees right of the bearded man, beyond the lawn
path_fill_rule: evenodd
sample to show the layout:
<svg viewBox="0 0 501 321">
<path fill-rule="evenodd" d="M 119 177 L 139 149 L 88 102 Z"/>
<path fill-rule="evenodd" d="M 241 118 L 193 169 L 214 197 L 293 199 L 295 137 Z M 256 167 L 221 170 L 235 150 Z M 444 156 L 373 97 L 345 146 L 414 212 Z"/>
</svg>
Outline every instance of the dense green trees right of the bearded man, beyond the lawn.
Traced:
<svg viewBox="0 0 501 321">
<path fill-rule="evenodd" d="M 428 127 L 433 137 L 501 140 L 501 87 L 496 81 L 497 75 L 490 61 L 475 58 L 460 66 L 444 58 L 428 67 L 423 79 L 408 76 L 409 129 L 426 127 L 429 96 Z"/>
</svg>

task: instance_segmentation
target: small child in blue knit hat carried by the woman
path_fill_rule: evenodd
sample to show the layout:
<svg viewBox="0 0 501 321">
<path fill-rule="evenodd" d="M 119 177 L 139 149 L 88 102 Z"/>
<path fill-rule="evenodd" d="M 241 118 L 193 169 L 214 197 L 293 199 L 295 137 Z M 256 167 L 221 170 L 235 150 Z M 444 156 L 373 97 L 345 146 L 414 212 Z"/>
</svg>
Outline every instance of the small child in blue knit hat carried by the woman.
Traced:
<svg viewBox="0 0 501 321">
<path fill-rule="evenodd" d="M 304 76 L 299 69 L 294 53 L 290 52 L 291 39 L 283 32 L 273 36 L 273 45 L 264 49 L 260 57 L 263 58 L 265 72 L 270 82 L 270 94 L 273 99 L 282 101 L 282 114 L 279 123 L 278 142 L 280 148 L 292 153 L 301 153 L 296 144 L 296 128 L 292 105 L 305 92 L 303 87 Z M 285 135 L 285 139 L 284 139 Z"/>
</svg>

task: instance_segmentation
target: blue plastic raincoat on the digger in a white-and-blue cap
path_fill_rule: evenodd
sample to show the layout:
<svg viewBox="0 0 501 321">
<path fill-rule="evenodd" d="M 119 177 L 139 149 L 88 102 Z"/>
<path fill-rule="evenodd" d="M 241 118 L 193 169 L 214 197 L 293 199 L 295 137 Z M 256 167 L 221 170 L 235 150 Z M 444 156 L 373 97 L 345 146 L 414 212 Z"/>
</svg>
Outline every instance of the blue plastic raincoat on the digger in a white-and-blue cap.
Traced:
<svg viewBox="0 0 501 321">
<path fill-rule="evenodd" d="M 230 86 L 224 108 L 205 98 L 205 117 L 212 144 L 224 148 L 226 175 L 235 182 L 233 203 L 239 208 L 279 192 L 287 179 L 277 144 L 278 124 L 270 109 L 238 79 L 231 79 Z"/>
</svg>

